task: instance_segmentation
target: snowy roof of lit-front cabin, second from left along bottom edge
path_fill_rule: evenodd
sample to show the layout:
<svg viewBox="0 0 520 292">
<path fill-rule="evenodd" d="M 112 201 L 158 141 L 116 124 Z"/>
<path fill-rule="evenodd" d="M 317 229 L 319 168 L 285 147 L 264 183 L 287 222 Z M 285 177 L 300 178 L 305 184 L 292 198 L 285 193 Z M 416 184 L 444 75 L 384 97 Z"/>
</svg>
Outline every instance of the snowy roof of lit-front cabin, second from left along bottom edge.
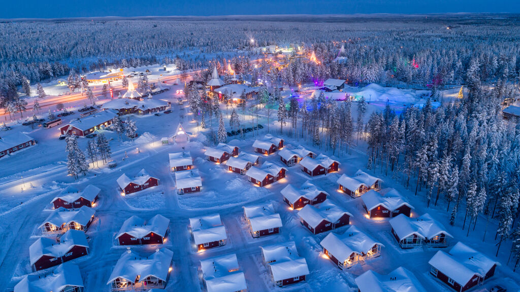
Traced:
<svg viewBox="0 0 520 292">
<path fill-rule="evenodd" d="M 158 249 L 146 257 L 128 249 L 115 264 L 107 284 L 112 283 L 116 278 L 134 282 L 138 275 L 140 280 L 154 276 L 166 281 L 172 260 L 173 251 L 167 248 Z"/>
</svg>

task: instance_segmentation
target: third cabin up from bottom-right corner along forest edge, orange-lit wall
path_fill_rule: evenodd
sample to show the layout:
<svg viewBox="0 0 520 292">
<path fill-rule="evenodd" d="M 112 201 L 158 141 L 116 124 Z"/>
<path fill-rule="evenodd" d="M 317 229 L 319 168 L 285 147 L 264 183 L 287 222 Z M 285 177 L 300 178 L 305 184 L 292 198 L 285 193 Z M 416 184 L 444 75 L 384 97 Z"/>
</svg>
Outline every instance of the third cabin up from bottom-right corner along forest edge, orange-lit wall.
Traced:
<svg viewBox="0 0 520 292">
<path fill-rule="evenodd" d="M 370 218 L 393 218 L 399 214 L 410 217 L 413 206 L 396 189 L 370 190 L 361 195 L 363 207 Z"/>
</svg>

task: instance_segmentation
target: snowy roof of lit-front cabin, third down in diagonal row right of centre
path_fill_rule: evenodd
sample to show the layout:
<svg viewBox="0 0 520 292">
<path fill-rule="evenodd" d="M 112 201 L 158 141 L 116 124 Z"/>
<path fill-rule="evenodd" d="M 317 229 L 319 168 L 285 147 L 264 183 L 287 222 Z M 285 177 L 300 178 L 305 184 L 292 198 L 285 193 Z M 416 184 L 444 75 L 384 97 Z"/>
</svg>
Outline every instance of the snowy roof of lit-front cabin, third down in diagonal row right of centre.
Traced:
<svg viewBox="0 0 520 292">
<path fill-rule="evenodd" d="M 384 246 L 376 242 L 372 237 L 360 231 L 354 225 L 343 234 L 329 233 L 320 242 L 320 245 L 330 251 L 332 255 L 341 262 L 344 262 L 353 253 L 367 254 L 374 245 Z"/>
</svg>

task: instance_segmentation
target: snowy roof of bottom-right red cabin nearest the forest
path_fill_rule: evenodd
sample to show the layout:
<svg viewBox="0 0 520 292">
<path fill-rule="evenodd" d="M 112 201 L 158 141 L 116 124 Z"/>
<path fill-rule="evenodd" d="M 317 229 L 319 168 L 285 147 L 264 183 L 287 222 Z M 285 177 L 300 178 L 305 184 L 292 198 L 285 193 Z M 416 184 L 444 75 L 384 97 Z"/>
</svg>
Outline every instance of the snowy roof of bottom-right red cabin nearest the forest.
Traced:
<svg viewBox="0 0 520 292">
<path fill-rule="evenodd" d="M 462 242 L 454 245 L 449 253 L 437 251 L 428 263 L 462 286 L 470 282 L 474 275 L 485 277 L 493 266 L 500 266 L 498 261 L 493 261 Z"/>
</svg>

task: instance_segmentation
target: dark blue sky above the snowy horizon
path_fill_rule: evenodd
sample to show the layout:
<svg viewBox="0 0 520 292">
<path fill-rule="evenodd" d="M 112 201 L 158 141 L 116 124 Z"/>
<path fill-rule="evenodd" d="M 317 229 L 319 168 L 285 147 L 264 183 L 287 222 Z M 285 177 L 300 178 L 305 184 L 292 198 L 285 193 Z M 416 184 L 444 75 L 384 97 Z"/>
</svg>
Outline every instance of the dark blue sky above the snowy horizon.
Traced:
<svg viewBox="0 0 520 292">
<path fill-rule="evenodd" d="M 5 0 L 0 18 L 520 12 L 518 0 Z"/>
</svg>

